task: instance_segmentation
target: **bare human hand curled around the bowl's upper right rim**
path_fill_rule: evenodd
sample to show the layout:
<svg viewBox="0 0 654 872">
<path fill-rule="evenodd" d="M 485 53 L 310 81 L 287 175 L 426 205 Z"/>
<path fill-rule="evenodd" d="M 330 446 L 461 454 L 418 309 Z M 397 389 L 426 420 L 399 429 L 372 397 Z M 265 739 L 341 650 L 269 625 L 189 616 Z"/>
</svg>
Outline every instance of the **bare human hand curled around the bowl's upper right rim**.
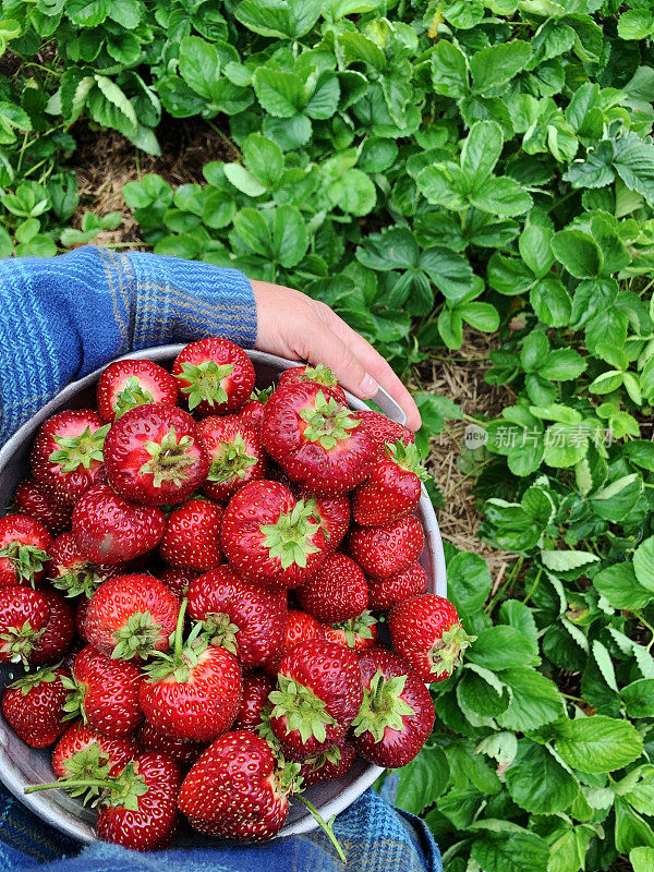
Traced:
<svg viewBox="0 0 654 872">
<path fill-rule="evenodd" d="M 261 351 L 324 363 L 362 400 L 372 399 L 383 387 L 404 410 L 407 426 L 420 427 L 417 407 L 388 363 L 328 305 L 268 281 L 253 281 L 252 288 L 258 323 L 256 347 Z"/>
</svg>

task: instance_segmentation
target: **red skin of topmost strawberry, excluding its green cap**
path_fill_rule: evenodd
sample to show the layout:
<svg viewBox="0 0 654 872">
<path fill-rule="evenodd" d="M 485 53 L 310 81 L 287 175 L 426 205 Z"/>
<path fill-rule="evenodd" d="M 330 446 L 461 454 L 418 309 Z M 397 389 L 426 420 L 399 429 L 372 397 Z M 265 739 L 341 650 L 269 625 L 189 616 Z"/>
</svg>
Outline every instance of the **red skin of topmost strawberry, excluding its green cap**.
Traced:
<svg viewBox="0 0 654 872">
<path fill-rule="evenodd" d="M 177 377 L 183 396 L 191 396 L 190 382 L 184 378 L 183 364 L 202 366 L 210 361 L 219 366 L 232 366 L 231 373 L 226 375 L 220 385 L 227 393 L 223 402 L 202 399 L 192 411 L 199 417 L 207 415 L 222 415 L 238 411 L 249 399 L 254 388 L 255 374 L 252 361 L 239 346 L 229 339 L 216 337 L 199 339 L 187 344 L 178 355 L 172 366 L 172 374 Z"/>
</svg>

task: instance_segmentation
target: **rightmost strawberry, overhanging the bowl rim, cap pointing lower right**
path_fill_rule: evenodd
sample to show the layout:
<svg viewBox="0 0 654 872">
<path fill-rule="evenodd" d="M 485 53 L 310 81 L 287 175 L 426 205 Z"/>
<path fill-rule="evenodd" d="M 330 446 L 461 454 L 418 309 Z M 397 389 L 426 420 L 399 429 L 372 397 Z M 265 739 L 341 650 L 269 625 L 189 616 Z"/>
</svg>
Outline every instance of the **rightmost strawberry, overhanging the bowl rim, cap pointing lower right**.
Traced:
<svg viewBox="0 0 654 872">
<path fill-rule="evenodd" d="M 392 646 L 423 681 L 444 681 L 476 639 L 469 635 L 453 605 L 443 596 L 423 593 L 395 605 L 388 614 Z"/>
</svg>

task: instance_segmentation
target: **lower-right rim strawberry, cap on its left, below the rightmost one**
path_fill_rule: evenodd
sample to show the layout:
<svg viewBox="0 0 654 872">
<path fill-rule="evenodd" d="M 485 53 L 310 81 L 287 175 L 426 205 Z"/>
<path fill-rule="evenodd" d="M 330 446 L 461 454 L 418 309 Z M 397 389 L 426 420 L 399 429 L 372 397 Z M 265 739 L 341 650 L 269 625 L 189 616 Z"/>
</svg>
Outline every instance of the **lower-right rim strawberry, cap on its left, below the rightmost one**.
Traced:
<svg viewBox="0 0 654 872">
<path fill-rule="evenodd" d="M 359 657 L 363 703 L 352 724 L 352 744 L 377 766 L 405 766 L 434 726 L 425 685 L 397 654 L 375 646 Z"/>
</svg>

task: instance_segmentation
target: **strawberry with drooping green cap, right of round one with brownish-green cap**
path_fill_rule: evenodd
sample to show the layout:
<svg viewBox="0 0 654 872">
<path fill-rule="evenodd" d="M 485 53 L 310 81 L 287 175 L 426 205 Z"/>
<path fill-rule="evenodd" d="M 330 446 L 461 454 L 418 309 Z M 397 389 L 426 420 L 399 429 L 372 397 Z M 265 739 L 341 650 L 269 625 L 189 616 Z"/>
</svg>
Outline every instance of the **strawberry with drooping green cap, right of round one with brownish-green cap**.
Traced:
<svg viewBox="0 0 654 872">
<path fill-rule="evenodd" d="M 238 415 L 205 417 L 197 432 L 211 464 L 202 488 L 208 497 L 227 502 L 247 482 L 264 477 L 266 455 L 261 439 Z"/>
</svg>

